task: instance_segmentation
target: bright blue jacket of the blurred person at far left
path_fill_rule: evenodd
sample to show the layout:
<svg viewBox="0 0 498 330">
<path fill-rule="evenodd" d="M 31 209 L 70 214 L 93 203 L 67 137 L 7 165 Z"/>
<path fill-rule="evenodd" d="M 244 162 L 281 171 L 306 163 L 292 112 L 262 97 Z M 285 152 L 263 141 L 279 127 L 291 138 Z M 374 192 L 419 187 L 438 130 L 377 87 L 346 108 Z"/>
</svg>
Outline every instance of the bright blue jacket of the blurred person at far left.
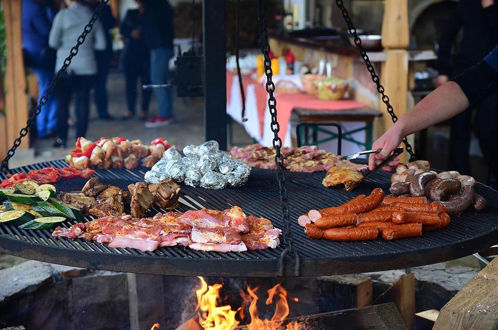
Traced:
<svg viewBox="0 0 498 330">
<path fill-rule="evenodd" d="M 55 10 L 35 0 L 22 1 L 21 31 L 24 61 L 28 67 L 55 67 L 55 51 L 48 47 L 48 34 Z"/>
</svg>

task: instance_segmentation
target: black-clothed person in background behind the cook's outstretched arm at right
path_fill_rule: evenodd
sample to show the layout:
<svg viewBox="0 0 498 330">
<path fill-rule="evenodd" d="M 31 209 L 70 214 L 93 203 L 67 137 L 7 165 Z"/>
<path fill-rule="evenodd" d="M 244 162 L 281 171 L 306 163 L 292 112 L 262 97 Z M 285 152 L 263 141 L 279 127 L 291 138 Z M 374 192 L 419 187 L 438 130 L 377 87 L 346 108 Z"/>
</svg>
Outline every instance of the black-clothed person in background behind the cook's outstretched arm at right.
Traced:
<svg viewBox="0 0 498 330">
<path fill-rule="evenodd" d="M 451 48 L 460 29 L 462 40 L 453 66 L 450 65 Z M 450 78 L 476 65 L 498 44 L 498 3 L 495 0 L 460 0 L 448 21 L 448 27 L 439 42 L 439 76 L 436 85 L 441 86 Z M 477 106 L 474 132 L 484 158 L 489 163 L 490 152 L 498 130 L 498 93 L 494 93 Z M 469 148 L 471 139 L 472 109 L 451 119 L 450 167 L 461 174 L 471 174 Z M 490 165 L 490 181 L 496 176 L 496 164 Z"/>
</svg>

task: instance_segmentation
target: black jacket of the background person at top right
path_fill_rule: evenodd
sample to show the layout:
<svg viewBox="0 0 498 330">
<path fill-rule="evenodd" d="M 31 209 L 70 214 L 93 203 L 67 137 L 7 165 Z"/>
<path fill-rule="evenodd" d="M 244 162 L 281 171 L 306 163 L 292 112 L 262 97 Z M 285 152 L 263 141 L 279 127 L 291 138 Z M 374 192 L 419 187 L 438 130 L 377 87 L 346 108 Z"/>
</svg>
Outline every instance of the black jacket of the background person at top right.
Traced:
<svg viewBox="0 0 498 330">
<path fill-rule="evenodd" d="M 448 21 L 448 27 L 439 39 L 439 74 L 449 75 L 451 47 L 463 28 L 463 37 L 454 63 L 456 71 L 476 65 L 498 43 L 498 4 L 487 8 L 479 0 L 460 0 Z"/>
</svg>

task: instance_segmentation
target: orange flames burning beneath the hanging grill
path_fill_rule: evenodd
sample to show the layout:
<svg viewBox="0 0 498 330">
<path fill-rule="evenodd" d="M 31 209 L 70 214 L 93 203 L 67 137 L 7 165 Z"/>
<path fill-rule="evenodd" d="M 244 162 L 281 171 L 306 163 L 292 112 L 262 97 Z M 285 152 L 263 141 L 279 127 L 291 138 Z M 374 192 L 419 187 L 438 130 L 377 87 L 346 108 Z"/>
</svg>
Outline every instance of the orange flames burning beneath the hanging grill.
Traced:
<svg viewBox="0 0 498 330">
<path fill-rule="evenodd" d="M 240 319 L 245 318 L 244 310 L 247 305 L 249 305 L 249 316 L 250 323 L 247 325 L 249 330 L 277 330 L 282 326 L 283 321 L 289 315 L 289 305 L 287 303 L 287 291 L 280 285 L 277 284 L 268 290 L 268 298 L 266 299 L 266 305 L 273 304 L 275 301 L 275 313 L 273 317 L 268 319 L 260 319 L 259 311 L 257 309 L 258 296 L 256 294 L 258 288 L 250 288 L 248 286 L 246 294 L 241 290 L 241 296 L 243 298 L 242 307 L 238 310 L 232 310 L 230 305 L 218 306 L 220 301 L 220 289 L 221 284 L 208 285 L 204 278 L 199 277 L 201 280 L 201 287 L 196 290 L 197 294 L 197 307 L 196 312 L 198 315 L 198 322 L 205 330 L 233 330 L 239 324 L 240 321 L 236 320 L 237 314 L 240 315 Z M 291 298 L 294 301 L 298 301 L 297 298 Z M 299 330 L 298 323 L 287 324 L 287 330 Z"/>
</svg>

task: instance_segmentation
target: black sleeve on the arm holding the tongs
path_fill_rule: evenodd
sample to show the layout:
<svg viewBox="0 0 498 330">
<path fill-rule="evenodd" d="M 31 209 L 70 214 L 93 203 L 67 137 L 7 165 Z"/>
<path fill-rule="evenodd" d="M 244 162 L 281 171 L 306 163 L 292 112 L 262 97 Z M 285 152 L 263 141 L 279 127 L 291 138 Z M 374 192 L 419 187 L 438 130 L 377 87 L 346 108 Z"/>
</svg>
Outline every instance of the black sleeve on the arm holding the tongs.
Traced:
<svg viewBox="0 0 498 330">
<path fill-rule="evenodd" d="M 471 107 L 498 89 L 498 72 L 484 60 L 451 80 L 460 86 Z"/>
</svg>

